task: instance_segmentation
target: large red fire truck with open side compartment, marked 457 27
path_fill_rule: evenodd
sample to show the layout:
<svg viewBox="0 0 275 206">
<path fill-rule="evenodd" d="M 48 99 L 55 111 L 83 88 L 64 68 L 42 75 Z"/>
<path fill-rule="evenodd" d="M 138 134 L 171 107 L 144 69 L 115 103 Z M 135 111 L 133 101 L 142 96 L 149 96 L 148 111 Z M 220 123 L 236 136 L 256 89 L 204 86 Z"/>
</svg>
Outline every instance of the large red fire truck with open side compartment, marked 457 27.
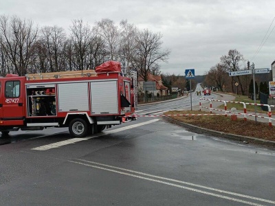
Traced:
<svg viewBox="0 0 275 206">
<path fill-rule="evenodd" d="M 43 130 L 69 127 L 73 137 L 85 137 L 133 115 L 137 107 L 137 77 L 125 77 L 120 62 L 95 70 L 8 74 L 0 78 L 0 130 Z"/>
</svg>

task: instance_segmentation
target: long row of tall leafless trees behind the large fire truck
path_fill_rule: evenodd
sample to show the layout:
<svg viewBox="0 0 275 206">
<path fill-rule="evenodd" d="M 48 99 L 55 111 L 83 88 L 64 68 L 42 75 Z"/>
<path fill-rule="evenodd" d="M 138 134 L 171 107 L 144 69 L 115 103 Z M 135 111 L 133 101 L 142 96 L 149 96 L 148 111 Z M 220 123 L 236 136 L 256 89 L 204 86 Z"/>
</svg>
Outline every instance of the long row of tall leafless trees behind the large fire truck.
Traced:
<svg viewBox="0 0 275 206">
<path fill-rule="evenodd" d="M 91 27 L 81 19 L 72 21 L 69 34 L 63 27 L 39 28 L 31 20 L 0 16 L 0 75 L 94 69 L 107 60 L 120 61 L 122 71 L 159 73 L 159 62 L 168 60 L 162 34 L 138 30 L 126 20 L 115 25 L 102 19 Z"/>
</svg>

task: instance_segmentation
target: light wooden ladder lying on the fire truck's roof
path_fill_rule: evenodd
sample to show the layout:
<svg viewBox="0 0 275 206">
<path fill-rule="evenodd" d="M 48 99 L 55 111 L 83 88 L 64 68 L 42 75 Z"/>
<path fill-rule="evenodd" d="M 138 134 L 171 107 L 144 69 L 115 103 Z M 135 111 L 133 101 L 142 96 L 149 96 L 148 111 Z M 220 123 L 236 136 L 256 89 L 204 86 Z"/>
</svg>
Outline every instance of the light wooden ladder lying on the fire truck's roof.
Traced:
<svg viewBox="0 0 275 206">
<path fill-rule="evenodd" d="M 28 73 L 25 75 L 27 80 L 50 80 L 58 78 L 80 78 L 98 76 L 94 69 L 78 70 L 78 71 L 58 71 L 48 73 Z"/>
</svg>

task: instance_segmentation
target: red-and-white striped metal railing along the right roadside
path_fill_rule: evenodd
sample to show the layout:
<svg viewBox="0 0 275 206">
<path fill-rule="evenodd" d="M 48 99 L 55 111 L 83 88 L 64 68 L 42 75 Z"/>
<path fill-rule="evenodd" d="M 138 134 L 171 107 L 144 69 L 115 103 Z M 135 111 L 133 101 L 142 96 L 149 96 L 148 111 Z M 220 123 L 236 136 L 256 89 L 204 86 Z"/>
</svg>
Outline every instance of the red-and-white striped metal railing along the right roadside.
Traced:
<svg viewBox="0 0 275 206">
<path fill-rule="evenodd" d="M 230 102 L 230 103 L 235 103 L 235 104 L 243 104 L 243 113 L 236 113 L 236 115 L 243 115 L 243 119 L 244 121 L 247 120 L 247 116 L 251 116 L 251 117 L 260 117 L 260 118 L 264 118 L 264 119 L 268 119 L 268 124 L 269 126 L 272 126 L 272 120 L 275 120 L 274 118 L 272 118 L 272 112 L 271 112 L 271 108 L 275 107 L 274 105 L 269 105 L 269 104 L 254 104 L 254 103 L 245 103 L 245 102 L 232 102 L 232 101 L 223 101 L 223 100 L 212 100 L 212 99 L 206 99 L 206 98 L 200 98 L 199 99 L 199 111 L 201 111 L 201 108 L 208 108 L 210 110 L 210 113 L 212 113 L 212 111 L 223 111 L 225 114 L 225 116 L 228 115 L 232 115 L 231 111 L 227 111 L 227 106 L 226 106 L 226 102 Z M 207 106 L 201 106 L 201 100 L 207 100 L 210 102 L 210 107 Z M 219 110 L 216 108 L 212 108 L 212 102 L 223 102 L 224 104 L 224 110 Z M 268 117 L 265 116 L 261 116 L 261 115 L 256 115 L 256 114 L 248 114 L 246 111 L 246 105 L 255 105 L 255 106 L 265 106 L 268 108 Z"/>
</svg>

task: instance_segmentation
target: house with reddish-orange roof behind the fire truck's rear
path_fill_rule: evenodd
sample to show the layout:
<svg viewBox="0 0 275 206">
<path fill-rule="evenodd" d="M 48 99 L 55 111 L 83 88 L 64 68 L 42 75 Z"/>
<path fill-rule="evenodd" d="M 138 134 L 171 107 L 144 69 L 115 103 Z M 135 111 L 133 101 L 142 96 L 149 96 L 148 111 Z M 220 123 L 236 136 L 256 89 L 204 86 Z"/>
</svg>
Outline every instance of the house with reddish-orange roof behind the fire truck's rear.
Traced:
<svg viewBox="0 0 275 206">
<path fill-rule="evenodd" d="M 159 96 L 168 95 L 168 87 L 165 87 L 162 84 L 161 76 L 153 76 L 151 73 L 148 73 L 147 81 L 156 83 L 156 85 L 155 85 L 156 91 L 150 91 L 151 93 L 154 92 L 154 95 L 157 95 L 157 93 L 159 93 Z M 143 91 L 143 82 L 144 82 L 144 78 L 139 76 L 137 78 L 137 85 L 138 85 L 138 88 L 140 89 L 140 91 Z"/>
</svg>

